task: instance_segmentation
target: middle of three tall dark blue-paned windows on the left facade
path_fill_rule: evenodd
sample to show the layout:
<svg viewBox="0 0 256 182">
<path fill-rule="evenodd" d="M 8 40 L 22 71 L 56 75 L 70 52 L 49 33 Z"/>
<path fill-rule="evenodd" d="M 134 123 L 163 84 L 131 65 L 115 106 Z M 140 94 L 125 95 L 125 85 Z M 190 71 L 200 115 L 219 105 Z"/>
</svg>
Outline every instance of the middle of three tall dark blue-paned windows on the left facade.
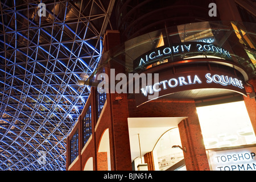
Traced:
<svg viewBox="0 0 256 182">
<path fill-rule="evenodd" d="M 83 131 L 83 146 L 92 135 L 92 107 L 89 106 L 88 110 L 85 113 L 84 121 L 82 123 L 82 131 Z"/>
</svg>

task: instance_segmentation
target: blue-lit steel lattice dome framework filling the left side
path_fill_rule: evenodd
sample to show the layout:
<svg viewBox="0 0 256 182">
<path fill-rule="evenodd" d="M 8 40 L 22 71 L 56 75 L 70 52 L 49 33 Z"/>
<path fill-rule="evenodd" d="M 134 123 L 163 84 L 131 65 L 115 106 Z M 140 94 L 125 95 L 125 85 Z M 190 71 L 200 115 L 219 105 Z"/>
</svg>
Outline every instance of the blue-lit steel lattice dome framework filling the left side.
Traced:
<svg viewBox="0 0 256 182">
<path fill-rule="evenodd" d="M 65 139 L 90 92 L 80 82 L 97 67 L 113 6 L 1 1 L 0 170 L 65 170 Z"/>
</svg>

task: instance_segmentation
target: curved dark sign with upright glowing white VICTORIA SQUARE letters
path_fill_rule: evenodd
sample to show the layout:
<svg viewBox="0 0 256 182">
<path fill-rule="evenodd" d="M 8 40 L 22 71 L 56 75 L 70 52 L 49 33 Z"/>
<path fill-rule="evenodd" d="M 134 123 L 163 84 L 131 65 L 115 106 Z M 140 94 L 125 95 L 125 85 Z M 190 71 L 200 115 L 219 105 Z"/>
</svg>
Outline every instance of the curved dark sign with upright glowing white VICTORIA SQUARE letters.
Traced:
<svg viewBox="0 0 256 182">
<path fill-rule="evenodd" d="M 246 96 L 243 81 L 229 73 L 202 70 L 170 75 L 167 72 L 160 73 L 159 81 L 154 81 L 154 84 L 142 86 L 141 94 L 135 95 L 137 106 L 155 98 L 193 89 L 225 89 Z"/>
</svg>

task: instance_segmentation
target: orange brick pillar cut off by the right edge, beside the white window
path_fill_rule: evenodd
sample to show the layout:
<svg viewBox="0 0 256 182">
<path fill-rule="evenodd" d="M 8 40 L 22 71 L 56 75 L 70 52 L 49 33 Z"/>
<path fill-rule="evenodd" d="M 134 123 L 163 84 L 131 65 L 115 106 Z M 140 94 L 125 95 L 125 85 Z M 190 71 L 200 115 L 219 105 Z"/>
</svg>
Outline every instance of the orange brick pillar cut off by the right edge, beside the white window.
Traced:
<svg viewBox="0 0 256 182">
<path fill-rule="evenodd" d="M 245 101 L 245 106 L 249 114 L 254 133 L 256 134 L 256 97 L 250 98 L 250 93 L 255 93 L 256 80 L 249 80 L 247 82 L 249 85 L 244 85 L 247 92 L 247 97 L 243 96 L 243 100 Z"/>
</svg>

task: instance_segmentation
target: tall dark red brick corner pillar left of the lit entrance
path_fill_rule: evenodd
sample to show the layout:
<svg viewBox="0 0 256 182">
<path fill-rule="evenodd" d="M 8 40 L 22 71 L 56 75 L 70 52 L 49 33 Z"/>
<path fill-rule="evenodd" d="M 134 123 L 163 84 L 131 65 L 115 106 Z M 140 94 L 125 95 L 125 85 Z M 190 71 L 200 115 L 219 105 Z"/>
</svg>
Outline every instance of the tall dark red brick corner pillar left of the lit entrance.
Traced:
<svg viewBox="0 0 256 182">
<path fill-rule="evenodd" d="M 107 31 L 104 37 L 104 51 L 111 50 L 115 46 L 120 44 L 118 31 Z M 114 52 L 114 51 L 113 51 Z M 109 52 L 109 56 L 112 51 Z M 125 73 L 125 59 L 123 55 L 121 57 L 115 57 L 110 59 L 105 73 L 109 76 L 109 81 L 112 80 L 110 69 L 115 69 L 115 75 L 118 73 Z M 114 77 L 115 77 L 114 75 Z M 110 105 L 111 126 L 110 128 L 110 154 L 113 156 L 113 170 L 114 171 L 131 171 L 131 154 L 130 154 L 130 142 L 128 131 L 128 106 L 127 106 L 127 94 L 110 93 L 107 94 L 107 100 Z"/>
</svg>

